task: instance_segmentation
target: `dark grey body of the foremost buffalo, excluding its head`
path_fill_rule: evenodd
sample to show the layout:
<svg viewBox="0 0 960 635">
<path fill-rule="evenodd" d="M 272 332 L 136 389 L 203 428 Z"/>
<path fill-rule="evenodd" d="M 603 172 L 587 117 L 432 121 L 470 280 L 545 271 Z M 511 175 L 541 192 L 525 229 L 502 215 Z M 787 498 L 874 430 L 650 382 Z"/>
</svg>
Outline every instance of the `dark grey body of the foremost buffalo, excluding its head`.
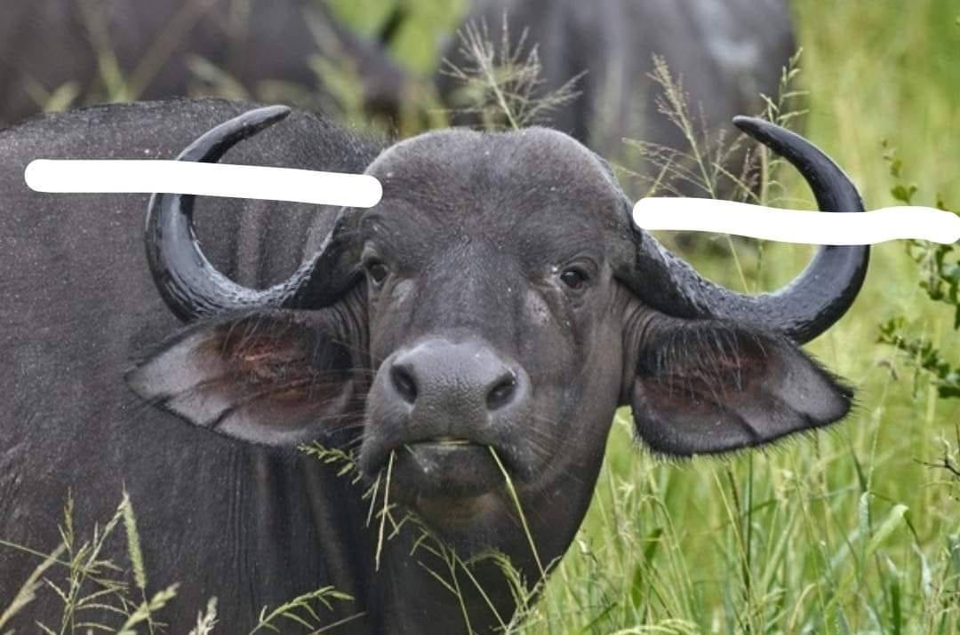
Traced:
<svg viewBox="0 0 960 635">
<path fill-rule="evenodd" d="M 349 549 L 363 531 L 350 517 L 355 488 L 314 474 L 324 472 L 316 459 L 278 456 L 144 410 L 123 386 L 123 373 L 132 352 L 178 324 L 143 254 L 147 197 L 39 195 L 24 185 L 23 169 L 37 156 L 173 158 L 243 109 L 220 102 L 105 106 L 0 132 L 2 207 L 17 210 L 0 219 L 0 387 L 16 395 L 0 418 L 0 535 L 52 549 L 68 488 L 78 502 L 77 526 L 89 529 L 109 517 L 126 485 L 147 532 L 151 584 L 183 583 L 175 633 L 190 629 L 210 596 L 220 599 L 221 630 L 247 632 L 264 604 L 276 606 L 317 581 L 362 594 L 362 585 L 338 573 L 362 570 L 372 557 Z M 311 116 L 290 123 L 228 158 L 357 172 L 376 155 Z M 324 220 L 307 206 L 204 200 L 199 207 L 214 262 L 251 285 L 295 268 L 310 224 Z M 269 245 L 282 247 L 267 253 Z M 0 603 L 36 564 L 0 550 Z M 59 615 L 55 609 L 56 602 L 38 604 L 26 617 L 47 619 Z"/>
</svg>

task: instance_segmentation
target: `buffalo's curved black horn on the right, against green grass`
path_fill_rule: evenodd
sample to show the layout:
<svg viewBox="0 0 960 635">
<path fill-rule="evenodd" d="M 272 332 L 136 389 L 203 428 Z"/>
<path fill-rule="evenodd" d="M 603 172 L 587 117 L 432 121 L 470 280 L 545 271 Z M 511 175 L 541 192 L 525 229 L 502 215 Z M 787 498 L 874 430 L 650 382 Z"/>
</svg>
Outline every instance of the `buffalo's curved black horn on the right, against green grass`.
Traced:
<svg viewBox="0 0 960 635">
<path fill-rule="evenodd" d="M 793 164 L 822 211 L 862 212 L 850 178 L 803 137 L 751 117 L 733 123 Z M 806 269 L 774 294 L 737 294 L 709 282 L 634 228 L 636 260 L 617 277 L 655 309 L 676 317 L 714 317 L 778 330 L 794 341 L 816 338 L 850 308 L 860 291 L 870 248 L 820 247 Z"/>
</svg>

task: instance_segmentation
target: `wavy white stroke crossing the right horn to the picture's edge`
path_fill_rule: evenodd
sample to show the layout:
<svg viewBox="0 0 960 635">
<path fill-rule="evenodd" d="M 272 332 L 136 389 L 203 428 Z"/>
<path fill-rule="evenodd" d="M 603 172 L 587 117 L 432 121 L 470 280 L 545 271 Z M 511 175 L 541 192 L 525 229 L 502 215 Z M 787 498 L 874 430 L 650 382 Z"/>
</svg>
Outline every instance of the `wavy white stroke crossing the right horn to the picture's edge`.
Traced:
<svg viewBox="0 0 960 635">
<path fill-rule="evenodd" d="M 650 197 L 634 205 L 634 223 L 643 229 L 713 231 L 810 245 L 960 240 L 960 216 L 920 206 L 863 213 L 802 212 L 731 200 Z"/>
</svg>

